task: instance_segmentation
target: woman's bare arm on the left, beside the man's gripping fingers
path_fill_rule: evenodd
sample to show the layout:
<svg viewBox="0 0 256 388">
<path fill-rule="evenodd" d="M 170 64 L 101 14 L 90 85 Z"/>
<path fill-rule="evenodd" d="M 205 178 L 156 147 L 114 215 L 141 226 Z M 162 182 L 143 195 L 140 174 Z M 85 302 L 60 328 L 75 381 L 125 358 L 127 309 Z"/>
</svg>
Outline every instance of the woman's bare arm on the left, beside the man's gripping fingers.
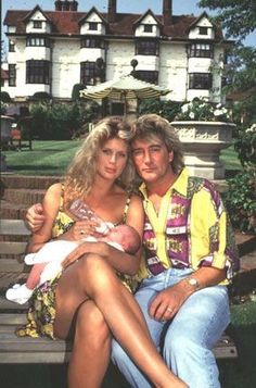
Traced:
<svg viewBox="0 0 256 388">
<path fill-rule="evenodd" d="M 28 252 L 37 252 L 47 241 L 50 240 L 52 225 L 60 208 L 61 192 L 61 184 L 54 184 L 47 190 L 42 201 L 44 222 L 42 227 L 33 234 L 27 247 Z"/>
</svg>

